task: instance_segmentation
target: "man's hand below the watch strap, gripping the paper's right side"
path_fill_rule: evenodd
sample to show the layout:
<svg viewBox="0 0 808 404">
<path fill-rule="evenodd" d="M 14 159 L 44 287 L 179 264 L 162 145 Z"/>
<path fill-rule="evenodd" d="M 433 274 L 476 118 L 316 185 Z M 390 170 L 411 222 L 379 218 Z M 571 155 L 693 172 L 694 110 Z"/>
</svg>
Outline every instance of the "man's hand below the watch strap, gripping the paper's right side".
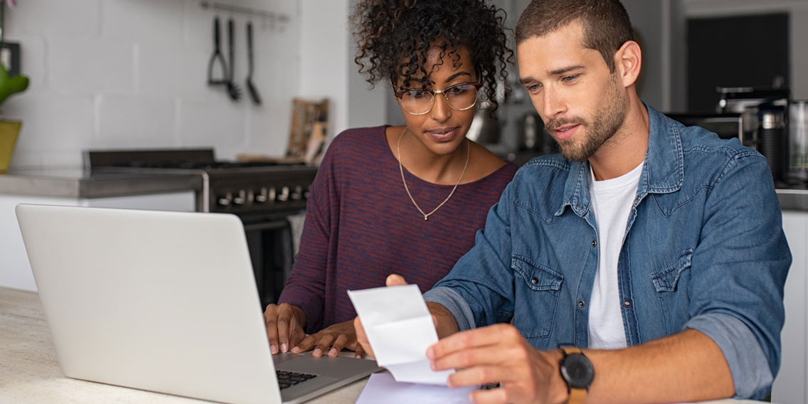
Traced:
<svg viewBox="0 0 808 404">
<path fill-rule="evenodd" d="M 516 327 L 496 324 L 441 339 L 427 350 L 431 368 L 457 368 L 449 387 L 499 383 L 499 388 L 475 390 L 477 403 L 565 402 L 566 383 L 559 372 L 562 354 L 538 351 Z"/>
</svg>

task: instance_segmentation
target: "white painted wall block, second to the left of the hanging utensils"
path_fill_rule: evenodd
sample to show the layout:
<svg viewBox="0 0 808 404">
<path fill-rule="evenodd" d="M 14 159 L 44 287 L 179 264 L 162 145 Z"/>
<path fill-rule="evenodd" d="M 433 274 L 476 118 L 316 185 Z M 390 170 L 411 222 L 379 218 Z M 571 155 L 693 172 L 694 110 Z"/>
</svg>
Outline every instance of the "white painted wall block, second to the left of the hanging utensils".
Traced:
<svg viewBox="0 0 808 404">
<path fill-rule="evenodd" d="M 63 94 L 132 93 L 134 44 L 112 40 L 50 40 L 49 82 Z"/>
</svg>

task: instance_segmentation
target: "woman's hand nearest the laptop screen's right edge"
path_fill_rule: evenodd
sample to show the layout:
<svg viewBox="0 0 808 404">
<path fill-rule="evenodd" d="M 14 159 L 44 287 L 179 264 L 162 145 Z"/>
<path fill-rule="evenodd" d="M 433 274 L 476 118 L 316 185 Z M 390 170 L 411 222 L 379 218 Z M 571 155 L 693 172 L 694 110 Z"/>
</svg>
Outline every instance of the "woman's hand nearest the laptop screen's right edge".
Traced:
<svg viewBox="0 0 808 404">
<path fill-rule="evenodd" d="M 304 339 L 305 321 L 305 312 L 296 305 L 288 303 L 267 305 L 267 309 L 263 312 L 263 322 L 267 325 L 267 338 L 272 355 L 279 351 L 286 352 Z"/>
</svg>

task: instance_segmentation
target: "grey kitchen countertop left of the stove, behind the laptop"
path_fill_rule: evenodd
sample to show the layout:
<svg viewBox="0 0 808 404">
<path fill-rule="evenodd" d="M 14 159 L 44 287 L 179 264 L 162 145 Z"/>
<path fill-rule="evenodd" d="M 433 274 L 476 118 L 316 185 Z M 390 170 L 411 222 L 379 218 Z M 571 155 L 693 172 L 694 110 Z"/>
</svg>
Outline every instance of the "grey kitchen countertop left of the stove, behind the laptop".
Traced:
<svg viewBox="0 0 808 404">
<path fill-rule="evenodd" d="M 81 168 L 11 170 L 0 175 L 0 194 L 57 198 L 104 198 L 200 191 L 198 174 L 86 173 Z"/>
</svg>

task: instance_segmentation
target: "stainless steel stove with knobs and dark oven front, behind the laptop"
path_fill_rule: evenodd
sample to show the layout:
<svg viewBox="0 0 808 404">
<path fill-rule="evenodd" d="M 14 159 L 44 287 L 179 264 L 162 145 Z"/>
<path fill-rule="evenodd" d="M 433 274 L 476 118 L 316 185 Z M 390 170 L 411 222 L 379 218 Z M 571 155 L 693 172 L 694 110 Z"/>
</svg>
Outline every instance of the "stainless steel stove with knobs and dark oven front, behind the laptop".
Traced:
<svg viewBox="0 0 808 404">
<path fill-rule="evenodd" d="M 288 162 L 221 162 L 213 149 L 90 150 L 94 173 L 199 175 L 196 210 L 233 213 L 244 224 L 262 305 L 277 301 L 292 271 L 289 215 L 305 210 L 317 168 Z"/>
</svg>

